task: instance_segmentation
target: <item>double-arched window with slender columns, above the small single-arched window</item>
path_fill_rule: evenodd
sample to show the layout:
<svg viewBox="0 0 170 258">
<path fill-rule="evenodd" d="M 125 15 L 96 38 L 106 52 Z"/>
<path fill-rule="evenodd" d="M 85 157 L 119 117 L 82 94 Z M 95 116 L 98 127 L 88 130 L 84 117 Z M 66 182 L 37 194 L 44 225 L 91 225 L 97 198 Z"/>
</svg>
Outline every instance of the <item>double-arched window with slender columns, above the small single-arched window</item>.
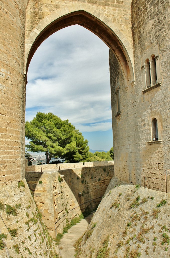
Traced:
<svg viewBox="0 0 170 258">
<path fill-rule="evenodd" d="M 142 66 L 142 77 L 145 88 L 149 88 L 160 82 L 159 55 L 155 57 L 152 54 L 145 60 L 145 64 Z"/>
</svg>

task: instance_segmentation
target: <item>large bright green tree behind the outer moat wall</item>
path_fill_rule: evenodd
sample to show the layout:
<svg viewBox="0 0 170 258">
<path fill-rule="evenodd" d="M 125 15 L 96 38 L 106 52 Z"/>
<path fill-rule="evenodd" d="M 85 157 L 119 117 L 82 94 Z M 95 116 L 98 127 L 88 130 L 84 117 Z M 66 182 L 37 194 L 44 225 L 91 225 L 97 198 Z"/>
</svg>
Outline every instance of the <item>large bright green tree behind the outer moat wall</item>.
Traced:
<svg viewBox="0 0 170 258">
<path fill-rule="evenodd" d="M 46 163 L 52 157 L 62 158 L 67 163 L 81 162 L 88 157 L 88 141 L 79 130 L 52 113 L 38 112 L 32 121 L 25 123 L 25 136 L 31 141 L 29 151 L 45 152 Z"/>
</svg>

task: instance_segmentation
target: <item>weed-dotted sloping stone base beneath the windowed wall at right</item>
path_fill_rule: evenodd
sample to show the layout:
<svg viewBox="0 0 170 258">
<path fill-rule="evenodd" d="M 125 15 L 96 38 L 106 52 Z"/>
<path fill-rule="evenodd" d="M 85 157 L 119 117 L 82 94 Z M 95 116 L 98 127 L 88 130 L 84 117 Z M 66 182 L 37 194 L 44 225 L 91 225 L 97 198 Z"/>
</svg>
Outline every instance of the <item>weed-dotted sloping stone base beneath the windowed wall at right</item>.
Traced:
<svg viewBox="0 0 170 258">
<path fill-rule="evenodd" d="M 166 203 L 156 207 L 162 200 Z M 113 176 L 82 238 L 79 257 L 95 258 L 100 253 L 110 258 L 168 258 L 169 240 L 164 236 L 170 237 L 169 214 L 169 193 L 136 187 Z"/>
</svg>

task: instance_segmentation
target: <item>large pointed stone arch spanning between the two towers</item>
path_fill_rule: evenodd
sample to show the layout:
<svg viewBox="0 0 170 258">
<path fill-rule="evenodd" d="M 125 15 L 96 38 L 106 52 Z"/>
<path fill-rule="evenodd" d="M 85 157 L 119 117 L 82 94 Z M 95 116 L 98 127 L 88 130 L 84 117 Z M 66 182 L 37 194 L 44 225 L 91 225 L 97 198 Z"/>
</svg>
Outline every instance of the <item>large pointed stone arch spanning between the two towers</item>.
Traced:
<svg viewBox="0 0 170 258">
<path fill-rule="evenodd" d="M 102 14 L 96 13 L 92 7 L 88 9 L 87 5 L 83 4 L 82 9 L 73 4 L 71 7 L 72 12 L 69 13 L 68 8 L 53 12 L 41 20 L 31 33 L 26 34 L 25 74 L 35 51 L 46 38 L 64 27 L 78 24 L 96 34 L 115 53 L 122 70 L 125 87 L 130 83 L 133 84 L 135 79 L 133 49 L 126 36 L 109 19 L 102 19 Z"/>
</svg>

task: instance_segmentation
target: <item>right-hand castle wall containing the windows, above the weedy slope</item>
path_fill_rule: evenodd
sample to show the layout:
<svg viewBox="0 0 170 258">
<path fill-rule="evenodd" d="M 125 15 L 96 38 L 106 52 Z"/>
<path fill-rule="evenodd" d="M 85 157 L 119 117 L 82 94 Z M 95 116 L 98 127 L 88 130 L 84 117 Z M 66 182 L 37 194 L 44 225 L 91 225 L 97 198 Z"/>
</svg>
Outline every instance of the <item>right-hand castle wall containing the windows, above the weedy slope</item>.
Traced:
<svg viewBox="0 0 170 258">
<path fill-rule="evenodd" d="M 165 192 L 170 191 L 168 10 L 169 1 L 132 2 L 134 85 L 125 87 L 118 61 L 112 51 L 109 55 L 115 175 L 126 182 Z M 159 57 L 160 78 L 146 89 L 143 65 L 152 54 Z M 116 116 L 118 86 L 121 114 Z M 153 118 L 158 123 L 159 141 L 155 142 Z"/>
</svg>

